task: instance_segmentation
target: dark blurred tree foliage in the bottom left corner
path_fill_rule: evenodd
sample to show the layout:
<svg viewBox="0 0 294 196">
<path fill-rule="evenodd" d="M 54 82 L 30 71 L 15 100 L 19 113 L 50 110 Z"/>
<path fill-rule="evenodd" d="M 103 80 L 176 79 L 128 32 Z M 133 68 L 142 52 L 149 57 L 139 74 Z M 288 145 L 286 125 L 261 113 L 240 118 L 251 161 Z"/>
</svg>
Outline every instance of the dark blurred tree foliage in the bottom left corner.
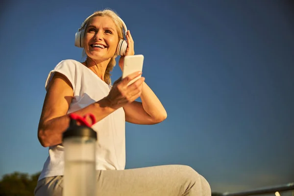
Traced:
<svg viewBox="0 0 294 196">
<path fill-rule="evenodd" d="M 34 196 L 41 172 L 32 175 L 21 172 L 13 172 L 2 176 L 0 181 L 0 196 Z"/>
</svg>

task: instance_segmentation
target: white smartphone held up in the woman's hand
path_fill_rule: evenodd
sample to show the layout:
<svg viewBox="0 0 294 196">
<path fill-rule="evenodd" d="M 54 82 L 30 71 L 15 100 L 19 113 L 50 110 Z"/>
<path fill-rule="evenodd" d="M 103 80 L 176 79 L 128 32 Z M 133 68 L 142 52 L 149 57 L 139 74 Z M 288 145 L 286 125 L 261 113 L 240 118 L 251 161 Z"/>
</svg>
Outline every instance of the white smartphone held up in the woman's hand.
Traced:
<svg viewBox="0 0 294 196">
<path fill-rule="evenodd" d="M 144 56 L 142 54 L 125 56 L 123 59 L 123 76 L 122 76 L 122 78 L 125 78 L 126 76 L 128 76 L 129 74 L 134 73 L 134 72 L 139 72 L 139 71 L 142 72 L 143 63 L 144 63 Z M 141 75 L 132 79 L 128 83 L 128 85 L 134 83 L 140 77 L 141 77 Z"/>
</svg>

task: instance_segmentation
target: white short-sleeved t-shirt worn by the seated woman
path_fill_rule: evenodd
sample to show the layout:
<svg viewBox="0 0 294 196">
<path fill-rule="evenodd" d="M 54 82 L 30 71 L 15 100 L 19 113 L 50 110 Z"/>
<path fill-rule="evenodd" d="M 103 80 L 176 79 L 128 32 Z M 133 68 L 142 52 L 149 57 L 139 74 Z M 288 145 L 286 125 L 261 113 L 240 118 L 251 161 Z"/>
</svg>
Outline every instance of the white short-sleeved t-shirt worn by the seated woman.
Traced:
<svg viewBox="0 0 294 196">
<path fill-rule="evenodd" d="M 73 100 L 68 113 L 84 108 L 109 94 L 111 86 L 93 71 L 75 60 L 63 60 L 56 65 L 46 80 L 45 88 L 54 72 L 64 74 L 73 85 Z M 92 128 L 97 132 L 96 170 L 124 170 L 125 167 L 125 116 L 123 108 L 116 110 Z M 62 144 L 49 147 L 49 156 L 39 180 L 63 175 L 64 151 Z"/>
</svg>

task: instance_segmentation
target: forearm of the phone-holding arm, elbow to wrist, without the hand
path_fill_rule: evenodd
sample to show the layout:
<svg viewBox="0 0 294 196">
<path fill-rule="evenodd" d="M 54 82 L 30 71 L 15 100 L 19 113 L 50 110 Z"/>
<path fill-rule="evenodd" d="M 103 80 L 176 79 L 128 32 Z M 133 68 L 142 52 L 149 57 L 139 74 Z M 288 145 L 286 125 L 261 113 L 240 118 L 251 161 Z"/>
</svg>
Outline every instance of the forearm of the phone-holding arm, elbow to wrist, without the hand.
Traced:
<svg viewBox="0 0 294 196">
<path fill-rule="evenodd" d="M 80 116 L 91 113 L 95 116 L 96 122 L 98 122 L 114 111 L 115 109 L 109 106 L 108 99 L 103 98 L 74 113 Z M 62 133 L 68 128 L 69 123 L 69 114 L 52 118 L 45 122 L 40 121 L 38 138 L 42 146 L 49 147 L 61 144 Z"/>
</svg>

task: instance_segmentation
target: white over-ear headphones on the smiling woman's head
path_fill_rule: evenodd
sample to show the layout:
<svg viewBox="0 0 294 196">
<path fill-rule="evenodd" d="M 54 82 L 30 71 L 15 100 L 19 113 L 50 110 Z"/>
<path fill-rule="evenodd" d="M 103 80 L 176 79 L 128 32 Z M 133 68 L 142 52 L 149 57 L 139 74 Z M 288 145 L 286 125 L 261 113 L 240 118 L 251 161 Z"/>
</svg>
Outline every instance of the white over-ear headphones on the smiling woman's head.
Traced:
<svg viewBox="0 0 294 196">
<path fill-rule="evenodd" d="M 91 16 L 89 16 L 88 18 L 86 18 L 86 20 L 82 23 L 81 27 L 75 33 L 74 46 L 79 47 L 79 48 L 84 48 L 84 33 L 85 33 L 85 29 L 84 29 L 85 26 L 84 25 L 88 21 L 88 19 L 90 17 L 92 17 L 93 15 L 95 15 L 95 13 L 92 14 Z M 126 35 L 126 32 L 127 32 L 126 25 L 124 24 L 123 20 L 120 17 L 119 17 L 119 19 L 121 20 L 121 22 L 123 24 L 124 32 Z M 124 56 L 126 48 L 127 48 L 127 42 L 124 39 L 121 39 L 118 46 L 117 46 L 116 54 Z"/>
</svg>

